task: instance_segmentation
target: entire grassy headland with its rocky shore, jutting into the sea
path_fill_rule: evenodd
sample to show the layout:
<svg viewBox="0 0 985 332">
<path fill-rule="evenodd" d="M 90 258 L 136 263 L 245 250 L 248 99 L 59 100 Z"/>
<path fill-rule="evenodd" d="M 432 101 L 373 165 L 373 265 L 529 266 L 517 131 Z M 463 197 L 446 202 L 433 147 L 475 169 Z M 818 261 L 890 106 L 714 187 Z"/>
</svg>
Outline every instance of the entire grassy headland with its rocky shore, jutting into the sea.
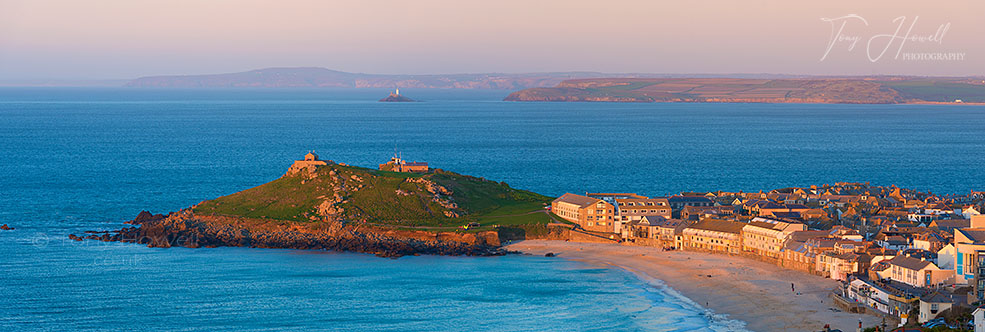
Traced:
<svg viewBox="0 0 985 332">
<path fill-rule="evenodd" d="M 505 183 L 432 169 L 394 156 L 379 170 L 308 153 L 281 178 L 168 215 L 142 212 L 135 227 L 75 240 L 152 247 L 324 249 L 404 255 L 490 256 L 491 226 L 546 224 L 550 198 Z M 511 233 L 512 234 L 512 233 Z"/>
</svg>

